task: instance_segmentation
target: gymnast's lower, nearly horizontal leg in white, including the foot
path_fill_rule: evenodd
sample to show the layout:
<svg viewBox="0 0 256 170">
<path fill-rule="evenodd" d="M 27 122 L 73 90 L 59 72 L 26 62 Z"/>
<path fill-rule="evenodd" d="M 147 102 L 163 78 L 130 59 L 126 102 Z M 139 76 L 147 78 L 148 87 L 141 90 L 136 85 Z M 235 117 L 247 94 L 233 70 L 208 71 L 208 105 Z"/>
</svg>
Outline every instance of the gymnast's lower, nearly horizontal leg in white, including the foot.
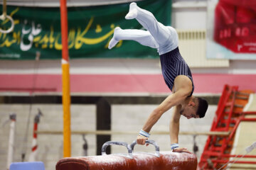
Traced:
<svg viewBox="0 0 256 170">
<path fill-rule="evenodd" d="M 119 40 L 134 40 L 139 42 L 141 45 L 146 45 L 152 48 L 159 47 L 156 40 L 154 40 L 149 31 L 146 30 L 122 30 L 119 27 L 114 28 L 114 36 L 110 40 L 108 48 L 112 49 L 112 47 L 114 47 L 114 45 L 116 45 Z"/>
</svg>

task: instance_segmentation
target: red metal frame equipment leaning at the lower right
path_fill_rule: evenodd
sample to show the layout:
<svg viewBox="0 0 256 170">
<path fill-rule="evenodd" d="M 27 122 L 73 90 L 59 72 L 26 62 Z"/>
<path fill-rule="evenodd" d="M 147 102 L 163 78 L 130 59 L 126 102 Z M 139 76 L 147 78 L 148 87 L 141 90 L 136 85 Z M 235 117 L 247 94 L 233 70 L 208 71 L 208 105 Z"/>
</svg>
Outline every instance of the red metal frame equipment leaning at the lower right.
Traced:
<svg viewBox="0 0 256 170">
<path fill-rule="evenodd" d="M 198 163 L 199 169 L 228 168 L 226 164 L 256 164 L 256 155 L 230 154 L 235 132 L 242 121 L 256 122 L 256 118 L 245 118 L 245 115 L 256 115 L 256 112 L 243 112 L 250 94 L 253 91 L 238 91 L 238 86 L 225 85 L 218 103 L 210 131 L 230 132 L 228 136 L 209 136 Z M 256 144 L 256 142 L 255 142 Z M 253 144 L 251 147 L 254 149 Z M 249 148 L 249 150 L 251 150 Z M 248 153 L 248 152 L 247 152 Z M 255 158 L 255 161 L 230 161 L 230 158 Z"/>
</svg>

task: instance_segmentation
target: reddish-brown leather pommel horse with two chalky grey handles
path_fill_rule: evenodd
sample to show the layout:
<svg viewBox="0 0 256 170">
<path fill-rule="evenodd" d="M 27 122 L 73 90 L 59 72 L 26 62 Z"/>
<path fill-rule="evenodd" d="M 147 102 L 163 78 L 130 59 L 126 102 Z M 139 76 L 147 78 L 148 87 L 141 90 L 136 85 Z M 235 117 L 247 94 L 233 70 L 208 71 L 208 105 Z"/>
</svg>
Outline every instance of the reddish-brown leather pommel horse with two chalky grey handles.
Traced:
<svg viewBox="0 0 256 170">
<path fill-rule="evenodd" d="M 159 146 L 154 140 L 146 140 L 154 145 L 156 152 L 133 152 L 137 142 L 128 145 L 126 142 L 106 142 L 102 145 L 102 155 L 92 157 L 68 157 L 60 159 L 56 170 L 196 170 L 197 158 L 195 154 L 178 152 L 159 152 Z M 128 154 L 106 154 L 110 145 L 127 147 Z"/>
</svg>

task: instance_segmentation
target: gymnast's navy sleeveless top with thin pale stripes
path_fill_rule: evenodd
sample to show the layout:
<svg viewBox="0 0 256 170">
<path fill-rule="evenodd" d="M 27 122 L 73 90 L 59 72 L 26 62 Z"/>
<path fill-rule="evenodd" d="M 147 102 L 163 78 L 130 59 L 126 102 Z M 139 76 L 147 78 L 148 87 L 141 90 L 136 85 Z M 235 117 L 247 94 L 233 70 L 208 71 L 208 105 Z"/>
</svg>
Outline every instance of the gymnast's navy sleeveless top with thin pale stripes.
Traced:
<svg viewBox="0 0 256 170">
<path fill-rule="evenodd" d="M 174 86 L 174 79 L 178 75 L 185 75 L 192 81 L 192 91 L 190 94 L 190 96 L 192 96 L 194 85 L 191 70 L 181 56 L 178 47 L 176 47 L 174 50 L 171 50 L 170 52 L 166 52 L 164 55 L 160 55 L 160 61 L 164 81 L 166 82 L 166 85 L 169 87 L 169 89 L 172 91 Z"/>
</svg>

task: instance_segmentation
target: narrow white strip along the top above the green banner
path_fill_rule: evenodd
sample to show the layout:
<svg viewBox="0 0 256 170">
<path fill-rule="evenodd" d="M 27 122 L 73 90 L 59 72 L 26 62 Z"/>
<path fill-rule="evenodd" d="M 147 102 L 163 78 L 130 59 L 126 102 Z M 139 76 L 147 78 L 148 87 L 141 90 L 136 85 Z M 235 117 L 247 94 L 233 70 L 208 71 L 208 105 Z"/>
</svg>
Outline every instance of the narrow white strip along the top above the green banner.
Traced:
<svg viewBox="0 0 256 170">
<path fill-rule="evenodd" d="M 122 4 L 129 3 L 132 1 L 142 0 L 66 0 L 67 5 L 71 6 L 99 6 L 99 5 L 110 5 L 110 4 Z M 0 4 L 3 4 L 3 0 L 0 0 Z M 60 6 L 60 0 L 6 0 L 7 6 L 48 6 L 58 7 Z"/>
</svg>

